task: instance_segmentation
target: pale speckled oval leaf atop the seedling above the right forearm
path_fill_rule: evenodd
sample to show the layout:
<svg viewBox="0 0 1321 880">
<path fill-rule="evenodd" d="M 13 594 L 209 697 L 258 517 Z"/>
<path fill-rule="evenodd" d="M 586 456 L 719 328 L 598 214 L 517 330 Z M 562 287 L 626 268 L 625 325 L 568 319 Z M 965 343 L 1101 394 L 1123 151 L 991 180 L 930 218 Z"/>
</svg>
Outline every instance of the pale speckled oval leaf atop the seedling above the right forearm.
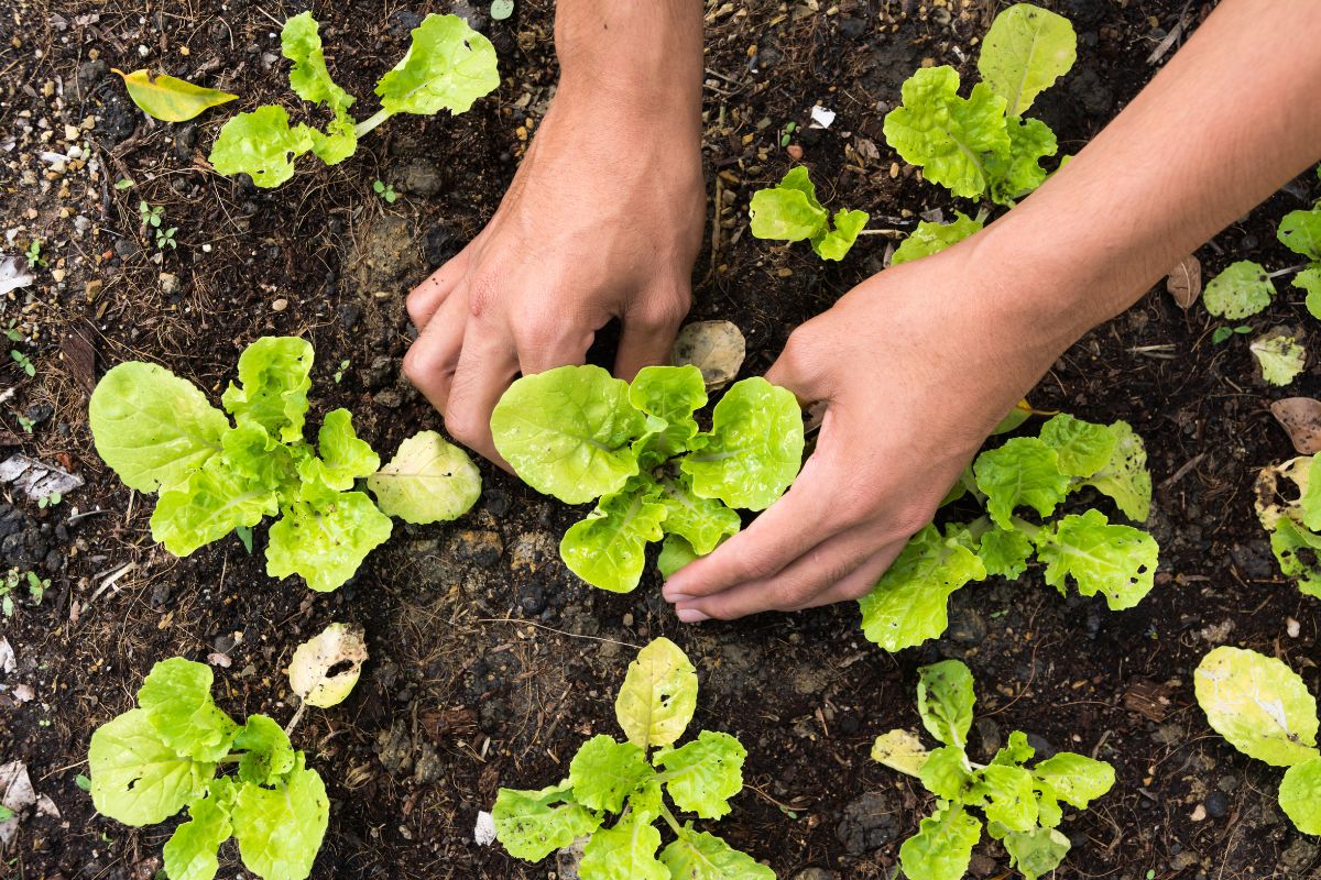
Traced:
<svg viewBox="0 0 1321 880">
<path fill-rule="evenodd" d="M 1078 37 L 1067 18 L 1018 3 L 991 22 L 978 73 L 991 91 L 1005 99 L 1009 116 L 1022 116 L 1077 59 Z"/>
</svg>

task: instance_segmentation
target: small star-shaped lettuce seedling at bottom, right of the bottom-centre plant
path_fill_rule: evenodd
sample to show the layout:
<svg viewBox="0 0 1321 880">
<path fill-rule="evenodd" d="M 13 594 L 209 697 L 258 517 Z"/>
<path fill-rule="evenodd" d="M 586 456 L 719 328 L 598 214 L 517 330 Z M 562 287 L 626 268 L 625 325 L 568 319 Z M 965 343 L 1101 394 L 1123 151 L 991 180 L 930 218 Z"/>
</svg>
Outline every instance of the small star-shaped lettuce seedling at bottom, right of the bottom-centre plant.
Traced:
<svg viewBox="0 0 1321 880">
<path fill-rule="evenodd" d="M 1033 767 L 1036 749 L 1021 731 L 1008 744 L 976 764 L 968 757 L 968 730 L 976 695 L 972 673 L 958 660 L 918 670 L 917 710 L 922 726 L 939 748 L 927 751 L 917 735 L 894 730 L 876 739 L 872 757 L 890 769 L 914 776 L 937 797 L 935 813 L 900 847 L 909 880 L 959 880 L 967 873 L 972 847 L 985 831 L 1009 854 L 1011 865 L 1028 880 L 1049 875 L 1069 852 L 1069 838 L 1058 831 L 1061 802 L 1085 810 L 1115 784 L 1106 761 L 1059 752 Z"/>
</svg>

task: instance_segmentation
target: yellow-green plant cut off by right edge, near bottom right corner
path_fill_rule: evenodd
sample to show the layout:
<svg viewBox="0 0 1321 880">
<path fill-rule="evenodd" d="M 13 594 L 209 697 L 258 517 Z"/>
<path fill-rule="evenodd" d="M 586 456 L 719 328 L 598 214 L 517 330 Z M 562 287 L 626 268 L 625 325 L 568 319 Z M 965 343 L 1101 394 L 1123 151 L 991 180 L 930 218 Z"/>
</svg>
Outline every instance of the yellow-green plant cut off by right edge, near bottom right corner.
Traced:
<svg viewBox="0 0 1321 880">
<path fill-rule="evenodd" d="M 1280 809 L 1304 834 L 1321 835 L 1317 701 L 1303 677 L 1255 650 L 1221 646 L 1193 676 L 1211 728 L 1248 757 L 1287 767 Z"/>
</svg>

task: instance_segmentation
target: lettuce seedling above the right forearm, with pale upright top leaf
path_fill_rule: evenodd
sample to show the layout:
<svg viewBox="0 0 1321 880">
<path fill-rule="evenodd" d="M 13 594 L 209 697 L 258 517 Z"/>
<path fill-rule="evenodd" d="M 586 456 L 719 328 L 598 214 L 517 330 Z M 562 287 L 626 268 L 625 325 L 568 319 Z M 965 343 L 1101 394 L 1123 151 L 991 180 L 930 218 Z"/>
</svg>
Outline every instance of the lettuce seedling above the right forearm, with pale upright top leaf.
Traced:
<svg viewBox="0 0 1321 880">
<path fill-rule="evenodd" d="M 904 103 L 885 115 L 885 140 L 933 183 L 962 198 L 1012 206 L 1046 179 L 1042 158 L 1058 145 L 1050 127 L 1024 113 L 1077 59 L 1073 25 L 1030 3 L 991 24 L 978 70 L 959 96 L 959 74 L 942 65 L 913 74 Z"/>
</svg>

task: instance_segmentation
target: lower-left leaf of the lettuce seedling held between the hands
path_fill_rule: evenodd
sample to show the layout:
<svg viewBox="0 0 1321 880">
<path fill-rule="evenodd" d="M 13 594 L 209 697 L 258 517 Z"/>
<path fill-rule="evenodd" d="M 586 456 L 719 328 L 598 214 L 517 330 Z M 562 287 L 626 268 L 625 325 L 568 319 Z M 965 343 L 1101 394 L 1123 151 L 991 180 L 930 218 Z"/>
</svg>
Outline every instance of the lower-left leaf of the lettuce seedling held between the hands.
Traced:
<svg viewBox="0 0 1321 880">
<path fill-rule="evenodd" d="M 642 579 L 647 542 L 660 540 L 664 517 L 664 505 L 630 483 L 568 528 L 560 538 L 560 557 L 593 587 L 629 592 Z"/>
</svg>

